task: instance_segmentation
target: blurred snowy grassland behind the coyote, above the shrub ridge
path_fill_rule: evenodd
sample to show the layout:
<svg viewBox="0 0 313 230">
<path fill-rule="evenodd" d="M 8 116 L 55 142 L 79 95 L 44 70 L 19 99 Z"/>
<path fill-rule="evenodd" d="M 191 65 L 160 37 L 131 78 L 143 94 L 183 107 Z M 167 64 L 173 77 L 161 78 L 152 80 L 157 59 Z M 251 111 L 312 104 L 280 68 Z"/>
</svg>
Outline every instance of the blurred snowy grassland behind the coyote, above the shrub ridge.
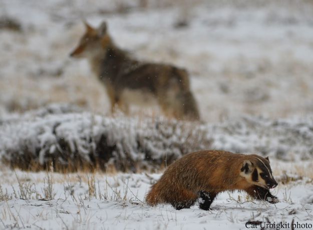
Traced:
<svg viewBox="0 0 313 230">
<path fill-rule="evenodd" d="M 120 47 L 186 68 L 201 117 L 313 111 L 311 0 L 1 0 L 0 116 L 51 103 L 99 114 L 110 104 L 70 51 L 107 20 Z"/>
</svg>

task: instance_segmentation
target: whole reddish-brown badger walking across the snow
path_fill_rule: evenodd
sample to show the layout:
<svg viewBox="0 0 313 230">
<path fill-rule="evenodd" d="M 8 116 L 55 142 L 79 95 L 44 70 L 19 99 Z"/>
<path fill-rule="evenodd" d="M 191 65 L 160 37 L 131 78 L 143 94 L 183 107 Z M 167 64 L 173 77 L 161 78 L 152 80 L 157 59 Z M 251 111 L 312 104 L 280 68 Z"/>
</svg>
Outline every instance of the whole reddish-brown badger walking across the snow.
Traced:
<svg viewBox="0 0 313 230">
<path fill-rule="evenodd" d="M 269 188 L 276 185 L 268 157 L 202 150 L 172 163 L 152 185 L 146 201 L 152 206 L 170 203 L 181 209 L 199 200 L 199 207 L 208 210 L 219 192 L 239 189 L 255 199 L 275 203 L 278 199 Z"/>
</svg>

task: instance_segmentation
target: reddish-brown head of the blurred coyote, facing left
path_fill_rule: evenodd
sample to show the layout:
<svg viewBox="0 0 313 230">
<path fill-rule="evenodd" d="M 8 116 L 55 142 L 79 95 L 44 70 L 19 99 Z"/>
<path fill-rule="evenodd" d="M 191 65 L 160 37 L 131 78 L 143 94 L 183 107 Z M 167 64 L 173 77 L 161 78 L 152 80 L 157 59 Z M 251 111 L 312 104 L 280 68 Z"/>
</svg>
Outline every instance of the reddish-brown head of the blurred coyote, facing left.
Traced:
<svg viewBox="0 0 313 230">
<path fill-rule="evenodd" d="M 103 21 L 99 28 L 93 28 L 85 22 L 86 32 L 81 37 L 78 46 L 70 53 L 70 56 L 93 57 L 103 54 L 107 47 L 111 44 L 111 38 L 107 33 L 107 23 Z"/>
</svg>

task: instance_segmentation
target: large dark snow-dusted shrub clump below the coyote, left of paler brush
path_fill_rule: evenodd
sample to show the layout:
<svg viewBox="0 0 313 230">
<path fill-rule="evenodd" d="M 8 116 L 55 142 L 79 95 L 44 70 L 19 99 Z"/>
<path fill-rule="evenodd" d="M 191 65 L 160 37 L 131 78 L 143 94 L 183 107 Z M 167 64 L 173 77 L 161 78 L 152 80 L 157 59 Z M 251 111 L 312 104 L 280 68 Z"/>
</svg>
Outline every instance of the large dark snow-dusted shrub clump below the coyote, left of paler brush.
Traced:
<svg viewBox="0 0 313 230">
<path fill-rule="evenodd" d="M 0 154 L 24 169 L 112 164 L 118 170 L 160 167 L 210 147 L 194 123 L 163 118 L 104 117 L 91 113 L 36 112 L 1 122 Z"/>
</svg>

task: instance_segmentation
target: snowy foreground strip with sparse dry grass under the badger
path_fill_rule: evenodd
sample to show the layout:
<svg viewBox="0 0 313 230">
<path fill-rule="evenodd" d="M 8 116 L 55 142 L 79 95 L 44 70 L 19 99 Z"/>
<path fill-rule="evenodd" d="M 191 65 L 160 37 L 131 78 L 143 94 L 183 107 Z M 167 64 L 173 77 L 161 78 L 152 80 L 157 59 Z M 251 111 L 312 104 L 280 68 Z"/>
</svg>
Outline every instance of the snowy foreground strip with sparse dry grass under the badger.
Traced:
<svg viewBox="0 0 313 230">
<path fill-rule="evenodd" d="M 308 226 L 313 224 L 313 171 L 310 169 L 311 177 L 304 176 L 296 169 L 303 165 L 312 168 L 307 162 L 272 160 L 279 181 L 272 193 L 279 203 L 251 200 L 244 192 L 224 192 L 209 211 L 197 205 L 182 210 L 168 204 L 149 207 L 144 196 L 160 174 L 58 174 L 3 168 L 0 228 L 246 229 L 248 221 L 291 224 L 292 219 L 294 224 Z"/>
</svg>

